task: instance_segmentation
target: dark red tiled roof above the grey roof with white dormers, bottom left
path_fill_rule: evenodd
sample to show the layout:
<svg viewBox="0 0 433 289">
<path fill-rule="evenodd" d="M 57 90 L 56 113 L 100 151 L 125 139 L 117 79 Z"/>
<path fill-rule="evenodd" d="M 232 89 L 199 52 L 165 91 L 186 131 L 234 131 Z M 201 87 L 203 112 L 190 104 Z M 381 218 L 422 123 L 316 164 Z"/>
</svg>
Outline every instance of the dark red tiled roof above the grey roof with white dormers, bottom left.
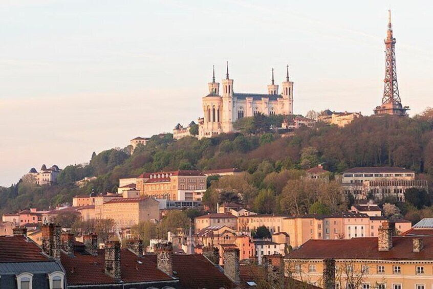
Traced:
<svg viewBox="0 0 433 289">
<path fill-rule="evenodd" d="M 24 236 L 0 236 L 0 262 L 48 262 L 42 249 Z"/>
</svg>

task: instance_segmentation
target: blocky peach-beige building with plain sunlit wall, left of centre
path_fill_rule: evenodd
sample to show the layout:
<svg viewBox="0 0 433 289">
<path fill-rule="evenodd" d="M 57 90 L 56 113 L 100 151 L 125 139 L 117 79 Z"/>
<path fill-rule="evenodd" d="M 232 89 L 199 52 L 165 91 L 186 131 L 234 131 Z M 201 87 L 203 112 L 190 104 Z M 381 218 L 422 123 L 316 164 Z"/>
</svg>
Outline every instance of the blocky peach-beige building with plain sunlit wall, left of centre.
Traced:
<svg viewBox="0 0 433 289">
<path fill-rule="evenodd" d="M 153 198 L 118 198 L 103 204 L 103 218 L 114 219 L 116 227 L 131 228 L 141 221 L 159 221 L 159 203 Z"/>
</svg>

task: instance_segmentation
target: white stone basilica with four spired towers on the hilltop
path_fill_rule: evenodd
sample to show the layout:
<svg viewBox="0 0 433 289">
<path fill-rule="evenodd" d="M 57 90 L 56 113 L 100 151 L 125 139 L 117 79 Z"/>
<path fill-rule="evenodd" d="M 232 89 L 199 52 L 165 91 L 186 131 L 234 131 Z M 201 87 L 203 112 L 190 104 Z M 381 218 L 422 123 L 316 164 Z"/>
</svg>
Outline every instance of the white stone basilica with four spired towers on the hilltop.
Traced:
<svg viewBox="0 0 433 289">
<path fill-rule="evenodd" d="M 209 94 L 203 97 L 203 118 L 199 119 L 199 139 L 210 138 L 223 132 L 232 132 L 233 123 L 244 117 L 257 114 L 292 115 L 293 114 L 293 82 L 289 80 L 287 66 L 286 81 L 283 81 L 283 93 L 278 93 L 278 84 L 274 81 L 272 69 L 271 84 L 267 94 L 235 93 L 233 79 L 230 79 L 227 64 L 226 79 L 215 82 L 213 70 L 212 82 L 208 83 Z"/>
</svg>

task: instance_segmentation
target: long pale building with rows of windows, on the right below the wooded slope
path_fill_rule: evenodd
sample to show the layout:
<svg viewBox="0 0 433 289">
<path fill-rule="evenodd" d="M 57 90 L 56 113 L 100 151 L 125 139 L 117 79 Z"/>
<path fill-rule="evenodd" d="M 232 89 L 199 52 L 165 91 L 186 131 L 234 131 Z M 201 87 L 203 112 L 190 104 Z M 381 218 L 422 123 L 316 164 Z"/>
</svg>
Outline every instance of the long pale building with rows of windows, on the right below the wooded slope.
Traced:
<svg viewBox="0 0 433 289">
<path fill-rule="evenodd" d="M 394 196 L 401 202 L 407 188 L 428 190 L 427 181 L 415 179 L 415 171 L 399 167 L 351 168 L 342 172 L 341 186 L 345 194 L 351 193 L 357 199 Z"/>
</svg>

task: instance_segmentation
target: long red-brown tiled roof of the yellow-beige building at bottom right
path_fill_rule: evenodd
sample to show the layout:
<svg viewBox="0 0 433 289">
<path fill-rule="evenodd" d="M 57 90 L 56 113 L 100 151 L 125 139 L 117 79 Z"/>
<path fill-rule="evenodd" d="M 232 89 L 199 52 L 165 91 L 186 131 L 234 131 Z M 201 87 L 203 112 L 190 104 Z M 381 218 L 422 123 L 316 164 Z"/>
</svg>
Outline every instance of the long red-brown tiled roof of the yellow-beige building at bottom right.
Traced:
<svg viewBox="0 0 433 289">
<path fill-rule="evenodd" d="M 308 240 L 289 253 L 290 259 L 379 259 L 379 260 L 432 260 L 433 236 L 423 237 L 424 249 L 413 252 L 413 239 L 409 236 L 393 237 L 393 248 L 378 251 L 377 238 L 364 237 L 343 240 Z"/>
</svg>

